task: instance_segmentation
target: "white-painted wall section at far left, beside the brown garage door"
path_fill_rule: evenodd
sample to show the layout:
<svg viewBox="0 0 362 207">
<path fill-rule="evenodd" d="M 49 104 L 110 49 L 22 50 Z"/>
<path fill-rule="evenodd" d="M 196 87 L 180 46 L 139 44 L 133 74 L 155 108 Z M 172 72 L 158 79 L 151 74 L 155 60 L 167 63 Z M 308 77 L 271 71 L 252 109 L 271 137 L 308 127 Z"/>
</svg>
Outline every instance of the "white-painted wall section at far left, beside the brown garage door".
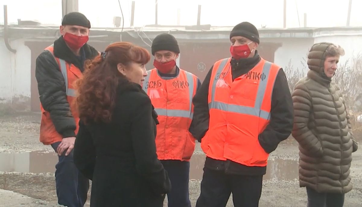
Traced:
<svg viewBox="0 0 362 207">
<path fill-rule="evenodd" d="M 29 109 L 31 52 L 22 39 L 10 42 L 10 46 L 16 54 L 0 38 L 0 103 Z"/>
</svg>

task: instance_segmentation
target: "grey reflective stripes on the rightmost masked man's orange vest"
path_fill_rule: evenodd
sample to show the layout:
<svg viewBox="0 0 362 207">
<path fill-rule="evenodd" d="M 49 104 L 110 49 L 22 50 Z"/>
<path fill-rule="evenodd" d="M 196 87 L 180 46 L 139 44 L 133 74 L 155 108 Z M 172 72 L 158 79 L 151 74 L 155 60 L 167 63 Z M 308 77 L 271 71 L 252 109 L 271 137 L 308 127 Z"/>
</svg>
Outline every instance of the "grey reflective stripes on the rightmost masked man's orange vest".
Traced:
<svg viewBox="0 0 362 207">
<path fill-rule="evenodd" d="M 221 74 L 228 60 L 229 58 L 222 60 L 216 71 L 216 75 Z M 271 63 L 266 61 L 262 70 L 262 73 L 264 73 L 266 77 L 269 77 L 270 68 L 271 68 Z M 222 111 L 253 115 L 266 120 L 270 119 L 270 113 L 268 111 L 264 111 L 261 109 L 261 105 L 265 94 L 266 84 L 268 83 L 267 79 L 265 81 L 260 81 L 254 107 L 239 106 L 239 105 L 226 104 L 219 101 L 215 101 L 215 90 L 217 82 L 218 82 L 217 80 L 214 80 L 212 84 L 211 102 L 209 103 L 209 110 L 218 109 Z"/>
</svg>

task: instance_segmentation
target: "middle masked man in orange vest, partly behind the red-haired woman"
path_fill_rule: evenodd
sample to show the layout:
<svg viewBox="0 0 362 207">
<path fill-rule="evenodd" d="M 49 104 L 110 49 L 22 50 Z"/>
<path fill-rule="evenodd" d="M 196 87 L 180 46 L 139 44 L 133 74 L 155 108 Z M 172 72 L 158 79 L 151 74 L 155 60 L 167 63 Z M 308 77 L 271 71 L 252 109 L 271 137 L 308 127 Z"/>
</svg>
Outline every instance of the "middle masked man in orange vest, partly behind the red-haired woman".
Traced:
<svg viewBox="0 0 362 207">
<path fill-rule="evenodd" d="M 176 65 L 180 49 L 171 34 L 160 34 L 152 42 L 153 68 L 147 71 L 143 90 L 150 96 L 158 115 L 156 149 L 171 181 L 169 207 L 191 207 L 189 199 L 190 158 L 195 138 L 192 98 L 200 80 Z"/>
</svg>

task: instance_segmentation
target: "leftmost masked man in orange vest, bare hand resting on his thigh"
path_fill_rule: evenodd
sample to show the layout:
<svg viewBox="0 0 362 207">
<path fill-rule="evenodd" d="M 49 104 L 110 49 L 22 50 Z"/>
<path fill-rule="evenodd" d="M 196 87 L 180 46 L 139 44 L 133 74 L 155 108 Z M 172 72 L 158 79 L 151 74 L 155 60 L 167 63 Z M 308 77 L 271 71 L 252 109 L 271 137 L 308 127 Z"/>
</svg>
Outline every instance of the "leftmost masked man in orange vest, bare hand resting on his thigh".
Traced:
<svg viewBox="0 0 362 207">
<path fill-rule="evenodd" d="M 81 207 L 87 200 L 89 180 L 73 163 L 73 147 L 79 117 L 73 100 L 73 83 L 82 76 L 83 64 L 98 51 L 87 44 L 90 22 L 81 13 L 64 16 L 59 39 L 38 56 L 35 76 L 41 102 L 40 141 L 58 153 L 55 168 L 58 203 Z"/>
</svg>

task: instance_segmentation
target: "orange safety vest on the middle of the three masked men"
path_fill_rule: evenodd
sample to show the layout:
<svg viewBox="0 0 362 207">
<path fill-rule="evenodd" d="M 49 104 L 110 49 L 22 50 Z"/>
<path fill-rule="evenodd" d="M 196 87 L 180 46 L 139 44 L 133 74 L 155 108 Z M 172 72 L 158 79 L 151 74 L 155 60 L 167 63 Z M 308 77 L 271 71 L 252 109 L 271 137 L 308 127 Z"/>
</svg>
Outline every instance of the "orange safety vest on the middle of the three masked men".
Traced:
<svg viewBox="0 0 362 207">
<path fill-rule="evenodd" d="M 150 96 L 160 122 L 156 136 L 158 159 L 189 161 L 195 149 L 195 138 L 189 127 L 197 77 L 182 69 L 171 80 L 162 79 L 156 68 L 147 73 L 143 90 Z"/>
</svg>

